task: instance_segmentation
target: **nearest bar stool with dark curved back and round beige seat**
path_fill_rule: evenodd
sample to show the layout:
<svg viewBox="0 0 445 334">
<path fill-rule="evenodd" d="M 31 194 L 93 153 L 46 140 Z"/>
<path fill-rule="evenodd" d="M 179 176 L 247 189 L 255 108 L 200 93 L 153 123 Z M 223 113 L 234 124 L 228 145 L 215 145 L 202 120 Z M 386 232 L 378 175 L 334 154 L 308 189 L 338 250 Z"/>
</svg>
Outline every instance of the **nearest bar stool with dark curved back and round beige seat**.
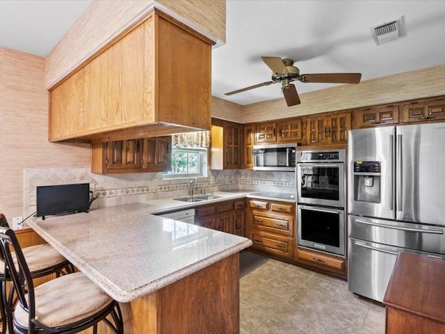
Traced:
<svg viewBox="0 0 445 334">
<path fill-rule="evenodd" d="M 17 293 L 15 333 L 79 333 L 89 327 L 97 333 L 100 321 L 113 333 L 124 333 L 118 302 L 83 273 L 60 276 L 34 287 L 31 271 L 10 228 L 0 228 L 0 260 Z"/>
</svg>

